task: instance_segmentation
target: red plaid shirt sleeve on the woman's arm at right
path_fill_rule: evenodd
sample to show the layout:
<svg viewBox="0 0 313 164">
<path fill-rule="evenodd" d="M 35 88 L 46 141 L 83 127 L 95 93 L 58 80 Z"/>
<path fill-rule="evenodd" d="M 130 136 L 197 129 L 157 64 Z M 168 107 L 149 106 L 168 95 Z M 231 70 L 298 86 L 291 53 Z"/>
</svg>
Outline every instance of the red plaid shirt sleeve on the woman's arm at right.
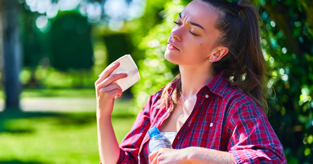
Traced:
<svg viewBox="0 0 313 164">
<path fill-rule="evenodd" d="M 265 114 L 255 104 L 241 105 L 231 115 L 228 150 L 239 164 L 287 163 L 284 149 Z"/>
</svg>

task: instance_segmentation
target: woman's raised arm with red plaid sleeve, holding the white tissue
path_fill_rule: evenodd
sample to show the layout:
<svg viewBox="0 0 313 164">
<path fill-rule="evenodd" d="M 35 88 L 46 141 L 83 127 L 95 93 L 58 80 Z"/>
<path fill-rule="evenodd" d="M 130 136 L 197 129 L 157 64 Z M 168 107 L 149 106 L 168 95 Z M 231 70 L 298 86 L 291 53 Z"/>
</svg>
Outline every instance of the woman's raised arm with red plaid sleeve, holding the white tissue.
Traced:
<svg viewBox="0 0 313 164">
<path fill-rule="evenodd" d="M 117 68 L 117 66 L 114 66 L 112 69 L 115 68 Z M 105 77 L 105 74 L 103 76 Z M 107 79 L 110 79 L 110 77 L 100 77 L 95 83 L 97 90 L 97 126 L 100 160 L 105 164 L 138 163 L 138 154 L 142 141 L 146 135 L 146 132 L 151 126 L 150 109 L 155 109 L 155 106 L 157 105 L 156 101 L 160 98 L 162 91 L 160 90 L 156 94 L 152 95 L 149 100 L 147 100 L 143 110 L 138 113 L 136 121 L 134 122 L 131 130 L 124 137 L 119 146 L 111 123 L 111 113 L 115 100 L 114 97 L 121 96 L 122 93 L 119 91 L 121 89 L 118 85 L 117 90 L 115 89 L 116 93 L 111 93 L 111 91 L 113 91 L 112 88 L 114 88 L 114 85 L 116 84 L 111 84 L 113 85 L 112 88 L 109 87 L 110 85 L 108 85 L 108 87 L 101 86 L 102 84 L 100 84 L 100 81 L 105 81 Z M 101 93 L 103 95 L 101 95 Z M 105 96 L 107 97 L 104 98 Z"/>
</svg>

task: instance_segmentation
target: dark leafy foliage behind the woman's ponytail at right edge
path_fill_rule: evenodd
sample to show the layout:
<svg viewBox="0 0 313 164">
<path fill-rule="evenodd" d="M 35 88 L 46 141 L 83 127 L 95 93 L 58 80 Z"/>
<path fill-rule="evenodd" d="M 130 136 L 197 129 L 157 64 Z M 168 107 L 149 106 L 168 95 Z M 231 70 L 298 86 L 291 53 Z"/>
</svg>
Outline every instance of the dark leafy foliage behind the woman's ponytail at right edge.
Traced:
<svg viewBox="0 0 313 164">
<path fill-rule="evenodd" d="M 274 75 L 268 83 L 275 89 L 269 120 L 288 163 L 312 163 L 313 2 L 261 0 L 258 5 L 264 22 L 264 57 Z"/>
</svg>

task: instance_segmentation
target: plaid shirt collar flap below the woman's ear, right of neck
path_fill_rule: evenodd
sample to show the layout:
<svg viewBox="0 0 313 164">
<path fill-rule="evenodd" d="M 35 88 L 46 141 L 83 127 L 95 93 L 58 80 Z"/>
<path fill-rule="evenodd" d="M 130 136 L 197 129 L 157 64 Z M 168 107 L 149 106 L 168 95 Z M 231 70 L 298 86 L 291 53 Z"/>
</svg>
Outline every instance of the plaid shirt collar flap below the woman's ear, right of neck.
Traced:
<svg viewBox="0 0 313 164">
<path fill-rule="evenodd" d="M 206 85 L 211 92 L 213 92 L 216 95 L 222 96 L 224 95 L 224 92 L 229 87 L 228 80 L 225 77 L 225 71 L 222 70 L 219 74 L 217 74 L 214 79 L 212 79 L 208 84 Z"/>
</svg>

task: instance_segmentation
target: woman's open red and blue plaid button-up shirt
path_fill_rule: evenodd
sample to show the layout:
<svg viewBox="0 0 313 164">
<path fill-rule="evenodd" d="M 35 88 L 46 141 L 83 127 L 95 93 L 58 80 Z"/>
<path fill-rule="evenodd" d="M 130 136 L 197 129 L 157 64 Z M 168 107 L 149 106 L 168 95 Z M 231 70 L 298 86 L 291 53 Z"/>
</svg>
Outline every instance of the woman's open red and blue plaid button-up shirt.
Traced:
<svg viewBox="0 0 313 164">
<path fill-rule="evenodd" d="M 174 82 L 168 90 L 170 94 L 175 85 Z M 147 131 L 160 127 L 170 115 L 165 105 L 156 108 L 162 102 L 161 93 L 162 89 L 152 95 L 137 115 L 131 131 L 120 144 L 117 163 L 148 164 Z M 172 146 L 228 151 L 236 163 L 286 163 L 283 146 L 263 111 L 250 97 L 229 86 L 223 71 L 198 91 L 194 109 Z"/>
</svg>

